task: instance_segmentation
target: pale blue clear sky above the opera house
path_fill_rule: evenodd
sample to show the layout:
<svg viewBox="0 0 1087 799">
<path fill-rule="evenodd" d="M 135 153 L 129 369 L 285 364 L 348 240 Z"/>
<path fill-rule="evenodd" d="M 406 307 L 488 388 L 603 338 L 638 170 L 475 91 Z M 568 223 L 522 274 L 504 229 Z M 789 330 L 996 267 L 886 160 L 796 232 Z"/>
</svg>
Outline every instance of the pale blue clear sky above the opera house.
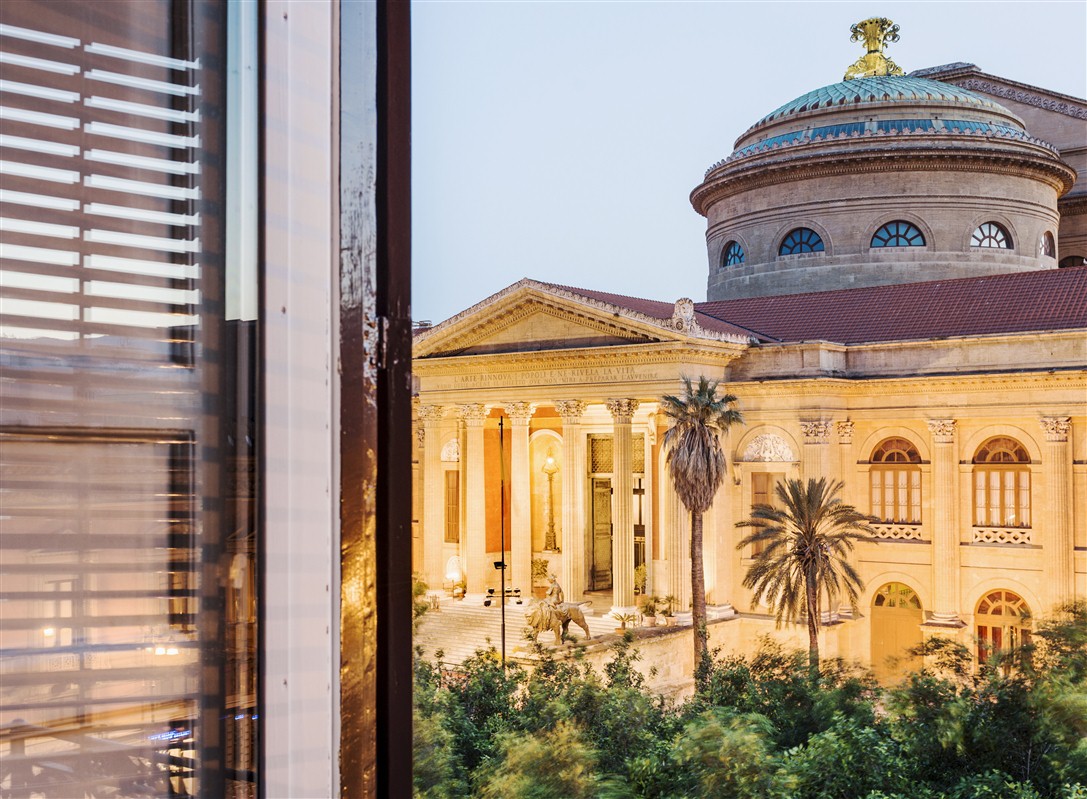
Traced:
<svg viewBox="0 0 1087 799">
<path fill-rule="evenodd" d="M 777 107 L 837 83 L 850 25 L 910 72 L 955 61 L 1087 97 L 1087 2 L 412 3 L 412 317 L 532 277 L 705 299 L 689 195 Z"/>
</svg>

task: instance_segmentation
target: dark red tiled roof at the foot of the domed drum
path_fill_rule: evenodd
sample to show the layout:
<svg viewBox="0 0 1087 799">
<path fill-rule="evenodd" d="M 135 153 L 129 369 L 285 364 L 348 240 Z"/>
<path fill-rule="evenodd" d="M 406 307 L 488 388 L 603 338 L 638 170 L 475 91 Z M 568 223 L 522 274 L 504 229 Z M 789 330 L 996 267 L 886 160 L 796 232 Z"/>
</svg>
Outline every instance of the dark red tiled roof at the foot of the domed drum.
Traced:
<svg viewBox="0 0 1087 799">
<path fill-rule="evenodd" d="M 1087 266 L 698 303 L 779 341 L 837 344 L 1087 328 Z"/>
</svg>

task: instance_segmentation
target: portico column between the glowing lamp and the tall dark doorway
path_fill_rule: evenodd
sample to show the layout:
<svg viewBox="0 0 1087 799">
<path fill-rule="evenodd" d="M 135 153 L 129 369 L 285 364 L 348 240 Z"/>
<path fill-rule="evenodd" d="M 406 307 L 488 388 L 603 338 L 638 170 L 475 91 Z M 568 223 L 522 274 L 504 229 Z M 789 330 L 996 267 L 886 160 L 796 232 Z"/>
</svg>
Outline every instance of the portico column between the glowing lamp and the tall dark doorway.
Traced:
<svg viewBox="0 0 1087 799">
<path fill-rule="evenodd" d="M 567 601 L 585 594 L 585 441 L 580 400 L 559 400 L 562 417 L 562 588 Z"/>
</svg>

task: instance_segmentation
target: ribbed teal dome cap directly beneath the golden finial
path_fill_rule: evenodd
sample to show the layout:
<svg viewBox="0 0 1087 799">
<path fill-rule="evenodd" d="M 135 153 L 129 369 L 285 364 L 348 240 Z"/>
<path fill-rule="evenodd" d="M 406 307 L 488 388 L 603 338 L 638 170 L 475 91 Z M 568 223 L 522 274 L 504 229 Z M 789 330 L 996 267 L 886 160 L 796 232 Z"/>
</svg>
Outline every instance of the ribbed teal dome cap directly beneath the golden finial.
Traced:
<svg viewBox="0 0 1087 799">
<path fill-rule="evenodd" d="M 869 102 L 951 102 L 974 105 L 977 109 L 994 109 L 1009 113 L 1005 108 L 987 97 L 973 91 L 960 89 L 958 86 L 928 80 L 923 77 L 891 76 L 862 77 L 855 80 L 842 80 L 838 84 L 824 86 L 821 89 L 801 95 L 796 100 L 787 102 L 776 111 L 772 111 L 759 120 L 751 129 L 771 122 L 823 108 L 858 105 Z"/>
</svg>

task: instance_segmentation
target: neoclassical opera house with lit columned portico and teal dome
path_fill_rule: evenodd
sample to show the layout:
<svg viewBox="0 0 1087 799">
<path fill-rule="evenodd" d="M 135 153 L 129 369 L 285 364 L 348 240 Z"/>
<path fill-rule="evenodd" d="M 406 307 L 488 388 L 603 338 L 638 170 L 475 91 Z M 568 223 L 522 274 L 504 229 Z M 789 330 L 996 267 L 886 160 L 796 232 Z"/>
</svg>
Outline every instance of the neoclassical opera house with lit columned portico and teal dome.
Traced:
<svg viewBox="0 0 1087 799">
<path fill-rule="evenodd" d="M 567 599 L 629 608 L 645 564 L 687 608 L 658 401 L 707 375 L 745 415 L 705 520 L 734 641 L 774 629 L 735 523 L 787 477 L 841 479 L 877 520 L 858 607 L 824 620 L 832 654 L 887 674 L 939 633 L 985 657 L 1087 597 L 1087 102 L 972 64 L 902 74 L 896 30 L 854 26 L 847 79 L 755 122 L 695 187 L 708 301 L 523 279 L 415 335 L 432 587 L 497 589 L 504 538 L 526 592 L 544 559 Z"/>
</svg>

